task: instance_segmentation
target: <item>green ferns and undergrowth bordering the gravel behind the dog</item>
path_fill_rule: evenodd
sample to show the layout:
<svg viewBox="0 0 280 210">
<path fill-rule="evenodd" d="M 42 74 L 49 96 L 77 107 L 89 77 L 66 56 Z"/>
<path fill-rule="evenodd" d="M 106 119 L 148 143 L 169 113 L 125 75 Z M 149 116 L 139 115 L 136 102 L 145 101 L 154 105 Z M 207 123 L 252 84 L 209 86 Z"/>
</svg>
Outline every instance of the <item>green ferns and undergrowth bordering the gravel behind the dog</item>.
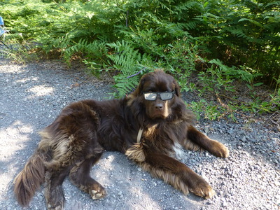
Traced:
<svg viewBox="0 0 280 210">
<path fill-rule="evenodd" d="M 208 118 L 279 109 L 279 1 L 2 0 L 0 15 L 8 41 L 25 54 L 59 52 L 69 65 L 79 57 L 94 73 L 110 71 L 116 97 L 131 92 L 142 73 L 163 68 L 183 91 L 228 95 L 244 83 L 251 92 L 251 102 L 232 99 L 220 109 L 194 103 Z M 264 83 L 274 87 L 265 101 L 254 93 Z"/>
</svg>

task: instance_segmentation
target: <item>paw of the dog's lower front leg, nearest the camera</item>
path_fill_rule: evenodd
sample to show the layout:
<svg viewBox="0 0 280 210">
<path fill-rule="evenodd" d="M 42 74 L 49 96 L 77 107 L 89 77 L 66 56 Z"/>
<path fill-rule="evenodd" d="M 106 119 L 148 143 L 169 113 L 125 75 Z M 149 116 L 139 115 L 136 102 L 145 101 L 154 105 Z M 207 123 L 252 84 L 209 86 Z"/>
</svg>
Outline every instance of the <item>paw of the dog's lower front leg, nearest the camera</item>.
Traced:
<svg viewBox="0 0 280 210">
<path fill-rule="evenodd" d="M 213 190 L 213 188 L 211 188 L 211 186 L 209 186 L 209 183 L 204 180 L 197 181 L 195 186 L 190 188 L 190 192 L 207 199 L 215 195 L 215 191 Z"/>
</svg>

